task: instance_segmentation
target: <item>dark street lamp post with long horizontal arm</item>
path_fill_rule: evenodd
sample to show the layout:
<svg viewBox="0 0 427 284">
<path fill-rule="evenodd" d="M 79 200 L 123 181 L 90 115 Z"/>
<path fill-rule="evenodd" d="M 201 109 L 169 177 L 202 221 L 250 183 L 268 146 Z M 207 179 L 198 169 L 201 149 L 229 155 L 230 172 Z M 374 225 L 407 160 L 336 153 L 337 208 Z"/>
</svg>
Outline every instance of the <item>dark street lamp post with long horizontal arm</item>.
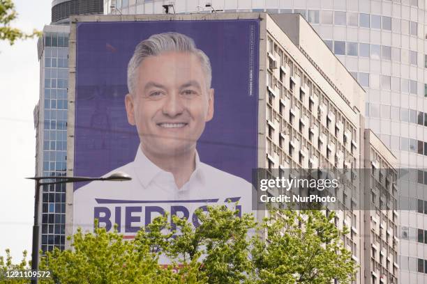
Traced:
<svg viewBox="0 0 427 284">
<path fill-rule="evenodd" d="M 34 225 L 33 225 L 33 251 L 31 253 L 31 269 L 38 270 L 38 246 L 40 242 L 40 226 L 38 224 L 38 207 L 40 203 L 40 187 L 46 184 L 64 184 L 68 182 L 92 182 L 94 180 L 122 182 L 132 180 L 127 173 L 117 172 L 105 178 L 89 178 L 89 177 L 67 177 L 67 176 L 52 176 L 52 177 L 33 177 L 27 178 L 36 180 L 36 196 L 34 198 Z M 43 180 L 48 180 L 43 182 Z M 54 180 L 54 181 L 49 181 Z M 32 284 L 38 283 L 38 278 L 31 279 Z"/>
</svg>

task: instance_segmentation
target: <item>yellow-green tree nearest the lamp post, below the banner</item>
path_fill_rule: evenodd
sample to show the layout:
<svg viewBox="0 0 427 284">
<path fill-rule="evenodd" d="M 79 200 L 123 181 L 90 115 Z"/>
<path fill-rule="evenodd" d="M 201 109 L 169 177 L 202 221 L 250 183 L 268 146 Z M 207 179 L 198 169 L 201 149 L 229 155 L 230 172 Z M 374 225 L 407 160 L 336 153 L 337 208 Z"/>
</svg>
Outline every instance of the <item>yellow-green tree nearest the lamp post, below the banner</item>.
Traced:
<svg viewBox="0 0 427 284">
<path fill-rule="evenodd" d="M 151 233 L 144 236 L 156 239 Z M 96 228 L 93 234 L 83 234 L 79 229 L 72 241 L 73 250 L 54 248 L 42 258 L 40 270 L 52 271 L 52 277 L 40 283 L 198 283 L 193 272 L 196 262 L 174 272 L 172 265 L 158 265 L 153 244 L 135 246 L 134 240 L 123 240 L 117 230 Z"/>
</svg>

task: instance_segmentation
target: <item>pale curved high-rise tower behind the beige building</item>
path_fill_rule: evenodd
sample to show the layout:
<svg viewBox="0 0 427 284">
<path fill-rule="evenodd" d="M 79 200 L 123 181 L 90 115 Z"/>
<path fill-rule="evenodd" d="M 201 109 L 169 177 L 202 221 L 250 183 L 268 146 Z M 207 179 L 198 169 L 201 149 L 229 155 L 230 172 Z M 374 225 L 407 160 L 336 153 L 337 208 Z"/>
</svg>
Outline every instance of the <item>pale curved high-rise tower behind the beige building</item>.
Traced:
<svg viewBox="0 0 427 284">
<path fill-rule="evenodd" d="M 105 13 L 300 13 L 366 90 L 366 127 L 400 168 L 419 168 L 400 192 L 400 282 L 427 282 L 426 2 L 421 0 L 105 0 Z M 173 8 L 172 8 L 173 6 Z M 424 185 L 423 185 L 424 184 Z M 407 206 L 408 205 L 408 206 Z M 415 222 L 414 220 L 418 220 Z M 421 235 L 423 237 L 421 237 Z"/>
</svg>

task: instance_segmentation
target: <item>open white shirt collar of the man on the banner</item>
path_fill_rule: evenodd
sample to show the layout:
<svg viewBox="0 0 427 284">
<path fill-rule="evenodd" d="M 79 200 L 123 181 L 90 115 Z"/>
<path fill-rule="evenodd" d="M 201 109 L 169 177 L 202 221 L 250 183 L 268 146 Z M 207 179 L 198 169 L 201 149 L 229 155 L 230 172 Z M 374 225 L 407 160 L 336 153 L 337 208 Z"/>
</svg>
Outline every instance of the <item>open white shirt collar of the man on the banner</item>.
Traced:
<svg viewBox="0 0 427 284">
<path fill-rule="evenodd" d="M 159 168 L 158 166 L 156 166 L 156 164 L 150 161 L 146 155 L 144 155 L 144 152 L 142 152 L 141 150 L 141 145 L 138 146 L 137 154 L 133 162 L 133 167 L 138 180 L 140 180 L 140 183 L 144 188 L 147 188 L 149 184 L 154 180 L 154 178 L 156 178 L 158 175 L 163 175 L 163 177 L 165 177 L 165 174 L 166 175 L 169 174 L 173 179 L 172 173 L 164 171 L 163 169 Z M 190 175 L 190 179 L 186 184 L 192 182 L 197 178 L 200 178 L 201 182 L 204 181 L 202 163 L 200 162 L 199 154 L 197 153 L 197 150 L 196 150 L 195 171 L 193 171 L 193 173 Z M 182 189 L 186 188 L 186 184 L 183 185 Z"/>
</svg>

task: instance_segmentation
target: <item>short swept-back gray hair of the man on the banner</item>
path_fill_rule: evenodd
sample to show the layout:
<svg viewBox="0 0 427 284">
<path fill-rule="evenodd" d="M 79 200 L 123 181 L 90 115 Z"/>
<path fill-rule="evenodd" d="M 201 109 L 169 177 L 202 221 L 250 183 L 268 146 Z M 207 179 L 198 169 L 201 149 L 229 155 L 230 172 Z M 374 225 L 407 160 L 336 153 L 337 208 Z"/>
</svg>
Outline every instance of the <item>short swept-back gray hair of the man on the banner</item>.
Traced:
<svg viewBox="0 0 427 284">
<path fill-rule="evenodd" d="M 150 36 L 147 40 L 142 40 L 133 52 L 128 64 L 128 90 L 130 94 L 135 94 L 138 77 L 138 68 L 142 61 L 149 56 L 160 55 L 163 52 L 188 52 L 195 54 L 200 59 L 204 76 L 206 77 L 207 88 L 211 88 L 212 68 L 209 57 L 197 49 L 194 40 L 182 33 L 158 33 Z"/>
</svg>

